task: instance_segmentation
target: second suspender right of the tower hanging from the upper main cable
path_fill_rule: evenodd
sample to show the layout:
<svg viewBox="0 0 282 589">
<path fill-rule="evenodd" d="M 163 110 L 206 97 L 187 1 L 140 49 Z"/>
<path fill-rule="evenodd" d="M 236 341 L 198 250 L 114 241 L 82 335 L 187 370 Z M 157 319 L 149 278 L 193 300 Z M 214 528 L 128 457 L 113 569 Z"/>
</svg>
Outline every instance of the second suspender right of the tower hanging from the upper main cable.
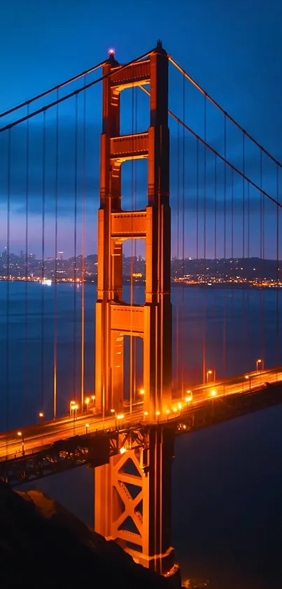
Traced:
<svg viewBox="0 0 282 589">
<path fill-rule="evenodd" d="M 206 96 L 204 97 L 204 141 L 206 142 Z M 204 293 L 203 293 L 203 383 L 206 378 L 206 145 L 204 145 Z"/>
</svg>

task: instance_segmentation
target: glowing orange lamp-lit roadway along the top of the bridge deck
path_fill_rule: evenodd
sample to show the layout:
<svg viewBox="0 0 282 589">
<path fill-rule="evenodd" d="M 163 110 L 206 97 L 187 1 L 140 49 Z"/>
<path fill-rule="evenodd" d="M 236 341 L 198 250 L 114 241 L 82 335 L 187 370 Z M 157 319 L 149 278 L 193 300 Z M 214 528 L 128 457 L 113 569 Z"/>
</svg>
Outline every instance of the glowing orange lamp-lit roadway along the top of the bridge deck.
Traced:
<svg viewBox="0 0 282 589">
<path fill-rule="evenodd" d="M 192 389 L 192 407 L 195 409 L 197 405 L 202 406 L 204 402 L 211 401 L 211 398 L 216 399 L 241 392 L 246 393 L 259 388 L 264 383 L 274 383 L 279 380 L 282 380 L 282 366 L 267 371 L 249 372 L 243 376 L 209 383 L 209 385 L 197 385 Z M 185 396 L 187 395 L 190 395 L 190 391 L 188 393 L 186 391 L 184 392 L 184 398 L 174 399 L 171 411 L 167 416 L 163 418 L 156 416 L 156 421 L 160 423 L 162 421 L 179 421 L 181 415 L 185 415 L 191 409 L 191 403 L 185 402 Z M 17 431 L 1 433 L 0 459 L 3 460 L 7 456 L 8 458 L 22 456 L 22 444 L 24 446 L 24 455 L 28 456 L 35 451 L 43 449 L 43 446 L 50 446 L 50 444 L 58 439 L 93 433 L 96 430 L 115 429 L 117 423 L 120 423 L 121 426 L 126 425 L 126 427 L 136 425 L 136 423 L 140 423 L 141 421 L 148 423 L 146 422 L 146 415 L 143 413 L 141 403 L 134 406 L 131 414 L 126 409 L 124 409 L 124 412 L 124 418 L 118 421 L 114 413 L 111 416 L 106 416 L 103 420 L 101 415 L 95 416 L 88 411 L 83 415 L 78 415 L 76 418 L 73 418 L 73 416 L 64 416 L 53 421 L 31 425 L 28 428 L 20 430 L 20 435 L 17 434 Z"/>
</svg>

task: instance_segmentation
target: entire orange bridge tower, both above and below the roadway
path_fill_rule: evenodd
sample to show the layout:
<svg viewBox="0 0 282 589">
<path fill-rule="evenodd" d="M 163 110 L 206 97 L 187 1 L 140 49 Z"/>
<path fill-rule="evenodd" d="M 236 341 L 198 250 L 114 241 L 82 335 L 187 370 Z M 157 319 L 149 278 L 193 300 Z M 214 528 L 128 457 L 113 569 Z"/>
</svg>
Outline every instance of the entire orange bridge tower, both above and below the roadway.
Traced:
<svg viewBox="0 0 282 589">
<path fill-rule="evenodd" d="M 123 406 L 123 340 L 143 338 L 143 411 L 148 420 L 171 408 L 171 292 L 169 206 L 168 56 L 160 41 L 148 58 L 103 68 L 98 280 L 96 305 L 96 405 L 103 414 Z M 120 135 L 120 92 L 150 84 L 150 126 Z M 148 159 L 148 205 L 122 211 L 122 162 Z M 146 241 L 145 305 L 122 300 L 122 244 Z M 136 439 L 141 442 L 136 446 Z M 95 468 L 95 531 L 117 541 L 136 562 L 160 574 L 174 571 L 171 548 L 173 432 L 155 425 L 130 432 L 126 446 Z M 134 445 L 135 444 L 135 445 Z"/>
</svg>

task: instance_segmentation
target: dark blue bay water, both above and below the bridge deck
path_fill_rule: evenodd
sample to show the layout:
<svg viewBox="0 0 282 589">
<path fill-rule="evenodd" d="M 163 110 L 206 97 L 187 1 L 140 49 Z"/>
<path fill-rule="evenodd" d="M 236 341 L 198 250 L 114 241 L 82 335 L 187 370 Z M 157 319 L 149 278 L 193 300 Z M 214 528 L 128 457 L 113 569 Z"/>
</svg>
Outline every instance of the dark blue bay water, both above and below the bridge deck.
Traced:
<svg viewBox="0 0 282 589">
<path fill-rule="evenodd" d="M 10 284 L 9 374 L 6 373 L 6 288 L 6 283 L 0 283 L 0 352 L 3 360 L 0 373 L 1 402 L 3 408 L 8 383 L 9 423 L 11 427 L 16 427 L 17 424 L 23 425 L 24 418 L 29 423 L 35 420 L 42 396 L 45 411 L 50 411 L 52 407 L 55 287 L 28 285 L 26 343 L 25 285 L 19 282 Z M 128 296 L 127 287 L 125 295 Z M 141 288 L 136 296 L 141 300 Z M 93 389 L 94 383 L 95 297 L 94 286 L 85 286 L 87 391 Z M 274 291 L 244 293 L 206 290 L 204 293 L 199 289 L 173 289 L 172 300 L 174 351 L 176 339 L 181 340 L 183 336 L 184 376 L 188 385 L 199 380 L 202 375 L 205 309 L 208 311 L 205 328 L 206 366 L 216 367 L 218 374 L 223 372 L 224 333 L 227 342 L 227 374 L 254 369 L 255 359 L 260 356 L 268 366 L 274 363 L 277 338 Z M 182 328 L 182 336 L 179 334 L 178 338 L 176 303 L 179 326 Z M 58 407 L 63 411 L 68 406 L 70 390 L 73 392 L 73 377 L 79 393 L 79 362 L 73 373 L 73 352 L 80 346 L 79 288 L 75 290 L 71 285 L 60 284 L 57 287 L 57 307 Z M 76 322 L 73 321 L 75 307 Z M 26 371 L 24 360 L 28 366 Z M 2 409 L 2 428 L 6 418 Z M 218 589 L 281 589 L 281 425 L 282 408 L 276 406 L 177 440 L 173 465 L 172 540 L 183 577 L 192 575 L 210 578 L 213 582 L 211 587 Z M 36 482 L 32 487 L 40 488 L 57 498 L 91 525 L 92 482 L 92 471 L 80 468 Z"/>
</svg>

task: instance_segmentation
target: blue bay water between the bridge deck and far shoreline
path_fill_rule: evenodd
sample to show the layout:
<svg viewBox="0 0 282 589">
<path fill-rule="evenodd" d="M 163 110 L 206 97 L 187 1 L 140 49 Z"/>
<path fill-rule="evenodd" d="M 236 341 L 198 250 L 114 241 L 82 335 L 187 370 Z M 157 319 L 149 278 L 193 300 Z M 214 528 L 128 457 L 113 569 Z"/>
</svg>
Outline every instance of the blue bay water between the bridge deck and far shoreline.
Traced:
<svg viewBox="0 0 282 589">
<path fill-rule="evenodd" d="M 129 286 L 124 296 L 129 301 Z M 136 287 L 134 296 L 143 302 L 143 286 Z M 282 322 L 278 333 L 276 321 L 282 298 L 278 301 L 274 290 L 175 287 L 171 299 L 175 389 L 181 390 L 182 378 L 185 389 L 202 382 L 203 357 L 206 369 L 216 369 L 218 378 L 254 370 L 258 358 L 266 366 L 282 363 L 276 345 L 282 336 Z M 94 285 L 85 285 L 85 395 L 94 392 L 95 300 Z M 0 282 L 0 430 L 34 423 L 39 411 L 52 417 L 55 331 L 59 415 L 69 411 L 71 399 L 80 399 L 81 286 Z M 141 354 L 137 358 L 136 386 L 142 388 Z M 125 366 L 128 396 L 128 341 Z"/>
</svg>

